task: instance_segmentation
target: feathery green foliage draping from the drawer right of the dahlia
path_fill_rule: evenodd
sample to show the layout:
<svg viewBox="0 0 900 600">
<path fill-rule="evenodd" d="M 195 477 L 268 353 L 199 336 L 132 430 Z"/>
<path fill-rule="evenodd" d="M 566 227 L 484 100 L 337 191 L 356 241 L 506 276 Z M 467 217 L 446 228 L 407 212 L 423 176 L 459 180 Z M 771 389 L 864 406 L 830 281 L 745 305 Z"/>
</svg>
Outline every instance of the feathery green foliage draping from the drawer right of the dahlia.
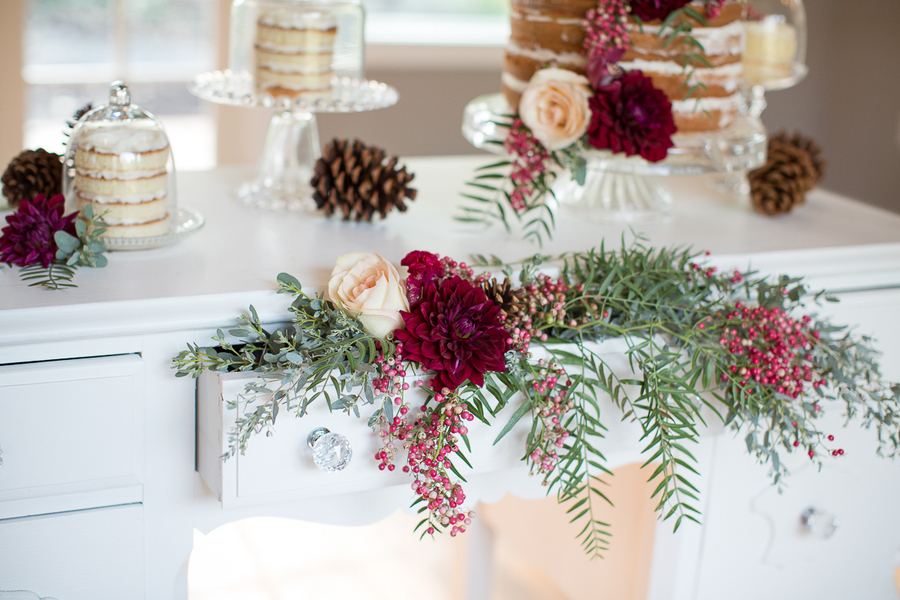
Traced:
<svg viewBox="0 0 900 600">
<path fill-rule="evenodd" d="M 506 266 L 510 272 L 521 267 L 523 273 L 533 273 L 548 260 L 562 263 L 561 279 L 571 288 L 567 318 L 576 324 L 547 322 L 541 331 L 549 336 L 551 355 L 572 376 L 572 393 L 578 399 L 575 416 L 566 425 L 573 436 L 549 483 L 560 501 L 579 511 L 575 517 L 584 523 L 582 541 L 591 553 L 599 554 L 607 533 L 594 516 L 593 504 L 605 499 L 593 485 L 601 481 L 605 462 L 599 450 L 600 398 L 611 398 L 623 419 L 640 424 L 644 466 L 653 469 L 648 479 L 656 483 L 656 509 L 662 518 L 673 518 L 676 529 L 685 520 L 699 519 L 699 492 L 691 482 L 697 461 L 691 446 L 705 425 L 704 408 L 746 434 L 748 450 L 769 464 L 774 482 L 787 475 L 778 453 L 797 451 L 793 440 L 800 440 L 803 452 L 822 445 L 825 436 L 816 427 L 821 414 L 816 402 L 804 396 L 792 400 L 774 386 L 759 385 L 752 391 L 740 387 L 729 370 L 733 357 L 712 325 L 738 301 L 791 313 L 827 296 L 810 297 L 799 279 L 770 282 L 752 273 L 743 278 L 717 275 L 701 267 L 701 257 L 690 249 L 653 249 L 640 239 L 632 245 L 623 240 L 618 251 L 601 245 L 556 259 L 538 255 L 508 265 L 496 257 L 475 257 L 470 266 Z M 710 326 L 700 328 L 701 323 Z M 876 429 L 881 454 L 900 456 L 900 386 L 882 380 L 871 340 L 824 320 L 814 321 L 813 329 L 821 334 L 811 350 L 816 372 L 830 386 L 810 393 L 817 399 L 844 401 L 848 419 L 858 416 L 865 427 Z M 620 380 L 588 343 L 608 338 L 625 341 L 633 379 Z M 825 453 L 817 452 L 815 460 Z"/>
</svg>

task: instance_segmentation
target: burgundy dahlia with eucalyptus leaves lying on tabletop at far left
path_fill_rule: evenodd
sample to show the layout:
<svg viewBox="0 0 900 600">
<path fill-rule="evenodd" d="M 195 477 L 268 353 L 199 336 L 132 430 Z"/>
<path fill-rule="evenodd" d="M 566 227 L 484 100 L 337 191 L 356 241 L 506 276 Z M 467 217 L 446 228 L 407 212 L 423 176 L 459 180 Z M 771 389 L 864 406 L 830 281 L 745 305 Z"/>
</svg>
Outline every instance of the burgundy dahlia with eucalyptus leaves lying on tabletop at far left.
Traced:
<svg viewBox="0 0 900 600">
<path fill-rule="evenodd" d="M 90 205 L 82 219 L 78 213 L 64 216 L 64 211 L 62 194 L 49 199 L 38 194 L 32 201 L 23 200 L 0 229 L 0 262 L 21 267 L 19 276 L 29 286 L 76 287 L 72 282 L 76 268 L 107 264 L 106 245 L 100 238 L 106 223 L 101 216 L 95 216 Z"/>
</svg>

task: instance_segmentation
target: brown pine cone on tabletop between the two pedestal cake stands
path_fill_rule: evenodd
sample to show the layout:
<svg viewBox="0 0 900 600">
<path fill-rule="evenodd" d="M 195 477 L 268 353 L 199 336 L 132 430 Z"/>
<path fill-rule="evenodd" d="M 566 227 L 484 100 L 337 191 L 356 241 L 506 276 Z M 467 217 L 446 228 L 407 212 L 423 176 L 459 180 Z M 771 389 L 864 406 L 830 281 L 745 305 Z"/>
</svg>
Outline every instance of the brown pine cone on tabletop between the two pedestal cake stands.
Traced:
<svg viewBox="0 0 900 600">
<path fill-rule="evenodd" d="M 329 217 L 340 214 L 345 221 L 371 221 L 377 212 L 381 218 L 396 208 L 406 210 L 405 198 L 415 200 L 416 190 L 407 187 L 412 173 L 397 167 L 397 157 L 385 163 L 381 148 L 366 146 L 359 140 L 332 140 L 316 162 L 311 184 L 316 206 Z"/>
</svg>

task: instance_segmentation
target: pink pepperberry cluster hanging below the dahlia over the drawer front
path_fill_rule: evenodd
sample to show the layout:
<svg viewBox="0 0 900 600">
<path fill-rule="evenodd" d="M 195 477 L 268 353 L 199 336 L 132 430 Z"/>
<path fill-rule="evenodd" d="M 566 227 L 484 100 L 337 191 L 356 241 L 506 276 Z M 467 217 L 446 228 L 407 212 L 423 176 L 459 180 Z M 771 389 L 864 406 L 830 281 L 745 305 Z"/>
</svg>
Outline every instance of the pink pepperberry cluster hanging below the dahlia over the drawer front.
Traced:
<svg viewBox="0 0 900 600">
<path fill-rule="evenodd" d="M 407 452 L 403 472 L 412 472 L 415 481 L 412 490 L 427 503 L 429 526 L 426 533 L 434 534 L 438 528 L 449 529 L 451 536 L 464 533 L 475 517 L 473 511 L 463 507 L 466 495 L 459 483 L 454 483 L 448 473 L 450 455 L 459 451 L 457 435 L 465 435 L 463 424 L 475 416 L 466 404 L 446 388 L 434 396 L 435 406 L 422 405 L 422 412 L 414 421 L 406 417 L 407 404 L 400 404 L 399 415 L 393 419 L 381 417 L 383 446 L 375 454 L 381 461 L 379 469 L 393 471 L 399 452 L 398 444 Z"/>
</svg>

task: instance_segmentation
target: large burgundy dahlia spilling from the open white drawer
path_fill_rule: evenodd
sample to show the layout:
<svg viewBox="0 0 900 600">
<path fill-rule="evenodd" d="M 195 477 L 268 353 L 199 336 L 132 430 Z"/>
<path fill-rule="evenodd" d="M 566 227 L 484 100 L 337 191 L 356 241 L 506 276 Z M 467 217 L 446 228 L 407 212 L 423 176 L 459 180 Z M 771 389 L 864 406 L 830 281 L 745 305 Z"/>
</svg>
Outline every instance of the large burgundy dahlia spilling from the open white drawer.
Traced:
<svg viewBox="0 0 900 600">
<path fill-rule="evenodd" d="M 435 371 L 435 390 L 456 389 L 468 379 L 484 385 L 487 371 L 506 371 L 503 353 L 509 334 L 500 307 L 473 283 L 451 277 L 431 281 L 411 312 L 401 312 L 406 329 L 394 332 L 403 356 Z"/>
</svg>

